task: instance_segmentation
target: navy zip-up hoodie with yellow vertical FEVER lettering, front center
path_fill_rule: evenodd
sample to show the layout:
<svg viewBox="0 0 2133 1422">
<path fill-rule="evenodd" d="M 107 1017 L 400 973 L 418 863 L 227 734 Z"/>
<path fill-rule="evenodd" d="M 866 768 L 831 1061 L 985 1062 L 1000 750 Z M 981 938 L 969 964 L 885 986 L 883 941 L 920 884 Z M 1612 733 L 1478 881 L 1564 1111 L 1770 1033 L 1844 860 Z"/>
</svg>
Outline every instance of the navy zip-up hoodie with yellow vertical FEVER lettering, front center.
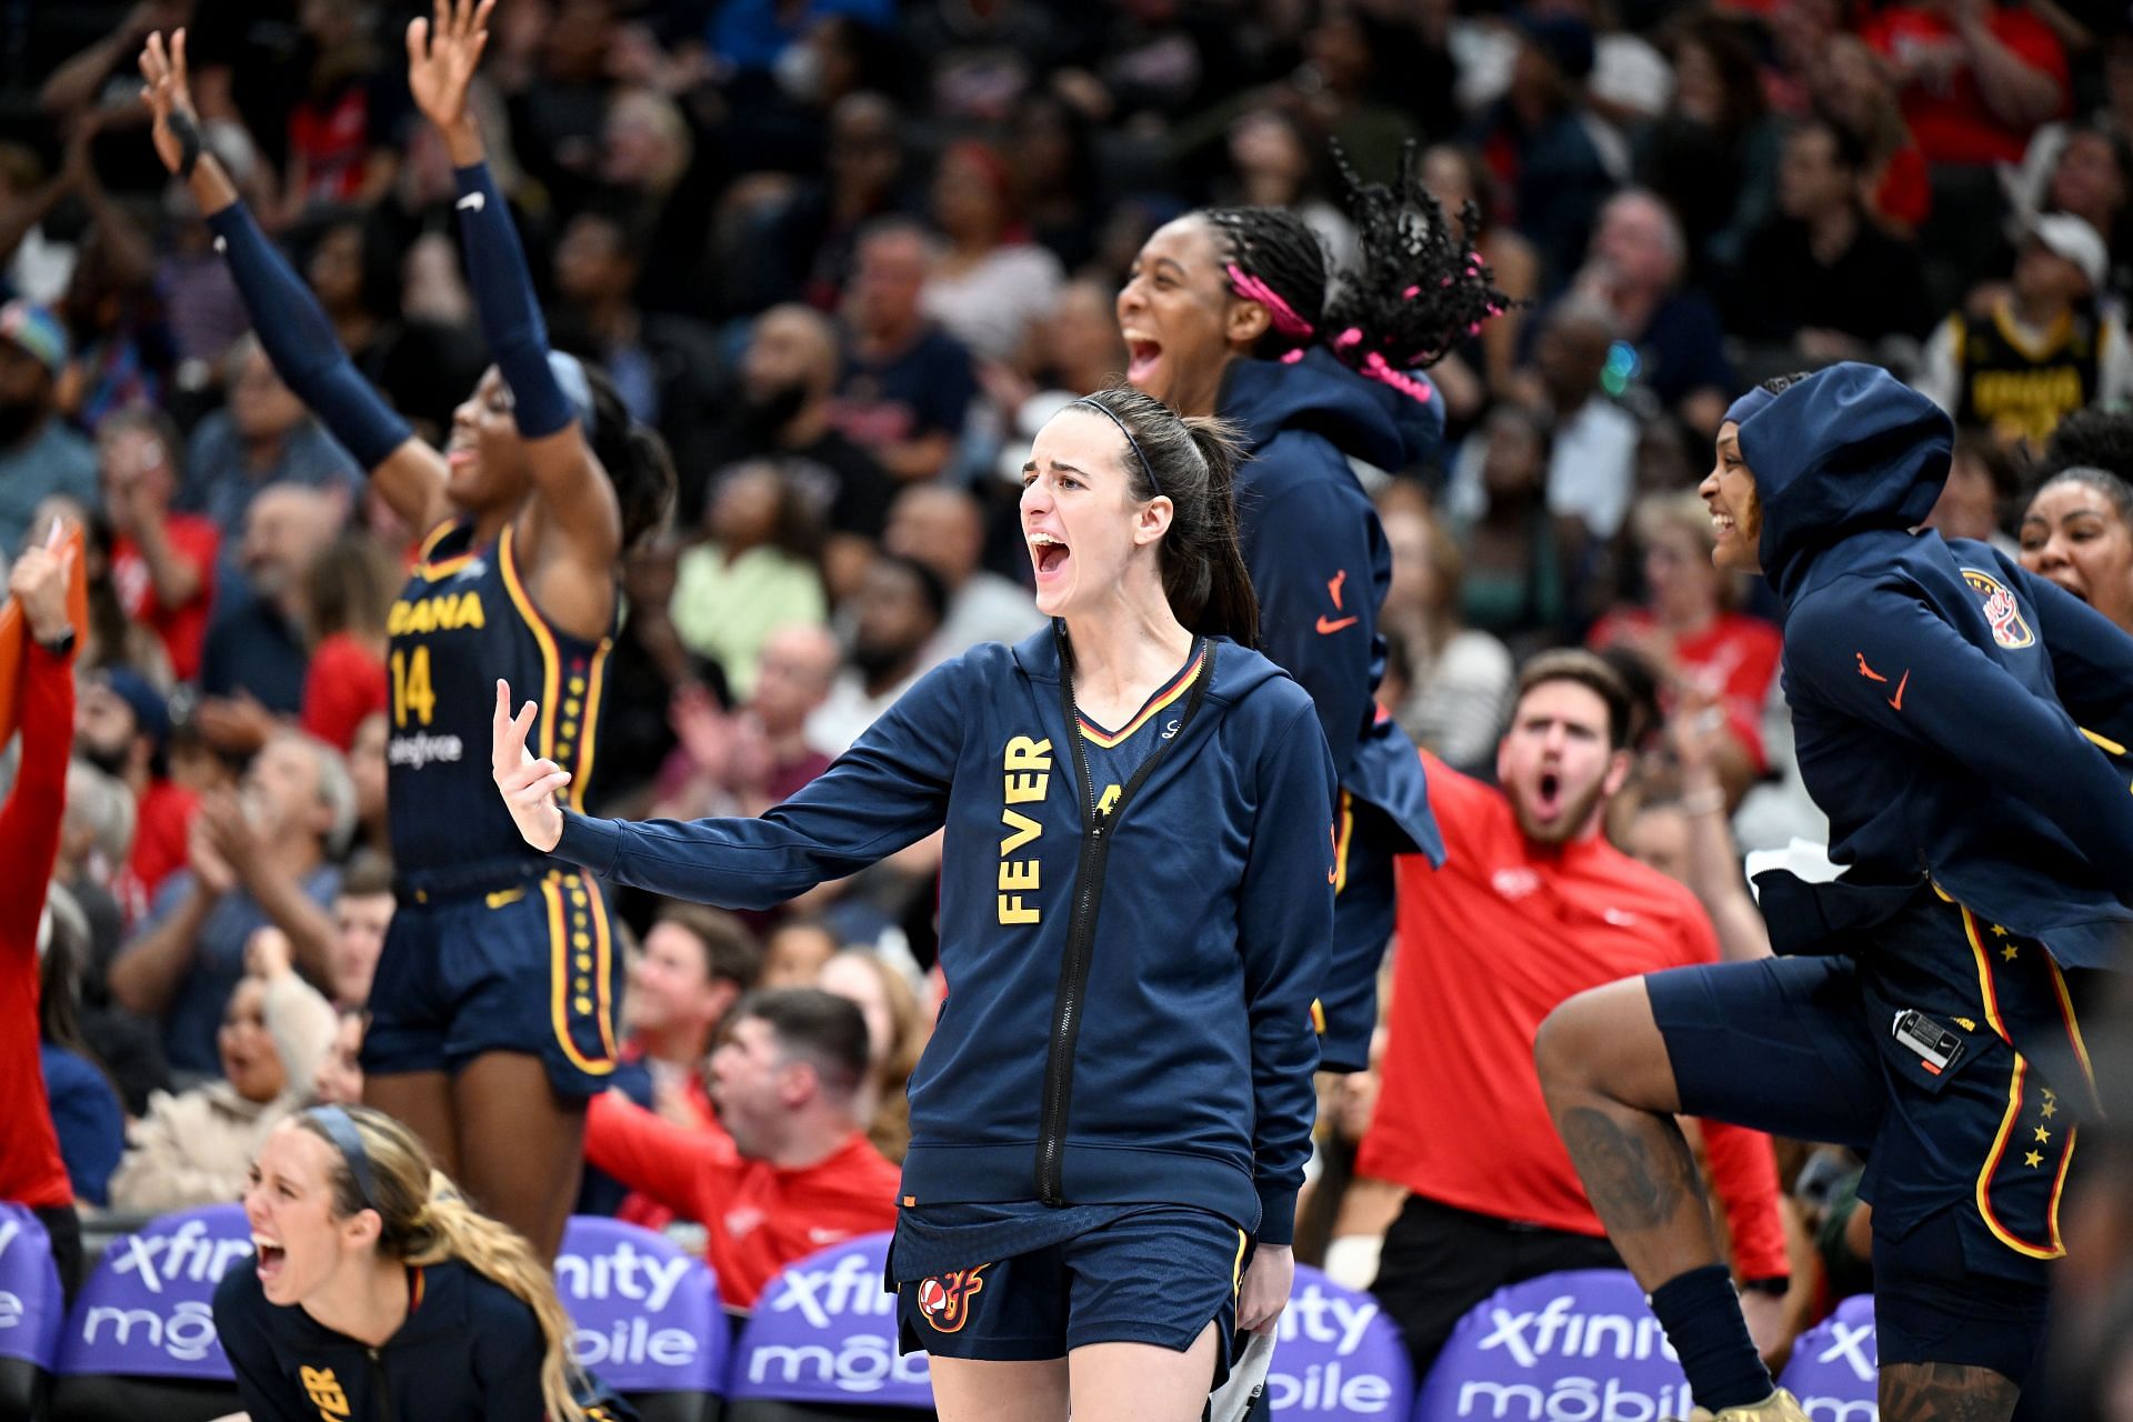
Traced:
<svg viewBox="0 0 2133 1422">
<path fill-rule="evenodd" d="M 761 819 L 563 817 L 614 880 L 770 908 L 947 827 L 949 996 L 911 1074 L 904 1205 L 1199 1205 L 1288 1243 L 1333 927 L 1310 697 L 1216 640 L 1177 729 L 1090 814 L 1060 633 L 928 672 Z"/>
</svg>

